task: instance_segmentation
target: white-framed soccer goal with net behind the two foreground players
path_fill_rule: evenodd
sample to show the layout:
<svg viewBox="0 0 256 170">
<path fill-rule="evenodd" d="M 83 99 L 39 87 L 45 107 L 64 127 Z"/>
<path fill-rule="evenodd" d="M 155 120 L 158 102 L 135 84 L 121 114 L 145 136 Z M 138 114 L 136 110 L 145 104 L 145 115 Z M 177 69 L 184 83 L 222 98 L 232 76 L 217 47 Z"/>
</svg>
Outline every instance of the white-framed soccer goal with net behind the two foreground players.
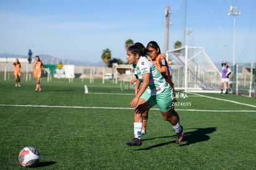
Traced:
<svg viewBox="0 0 256 170">
<path fill-rule="evenodd" d="M 177 90 L 185 92 L 220 92 L 221 73 L 202 47 L 184 46 L 167 51 Z"/>
</svg>

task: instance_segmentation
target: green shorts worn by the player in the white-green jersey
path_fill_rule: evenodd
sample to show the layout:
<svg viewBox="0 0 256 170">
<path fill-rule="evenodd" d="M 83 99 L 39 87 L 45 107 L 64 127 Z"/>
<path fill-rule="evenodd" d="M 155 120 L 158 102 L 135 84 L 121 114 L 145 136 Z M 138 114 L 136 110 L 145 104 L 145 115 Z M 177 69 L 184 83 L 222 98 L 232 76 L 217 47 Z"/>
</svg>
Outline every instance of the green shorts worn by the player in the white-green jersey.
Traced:
<svg viewBox="0 0 256 170">
<path fill-rule="evenodd" d="M 163 92 L 156 96 L 150 95 L 148 91 L 145 90 L 140 98 L 147 100 L 151 106 L 156 104 L 162 112 L 168 112 L 173 108 L 174 95 L 172 93 L 172 88 L 166 88 Z"/>
</svg>

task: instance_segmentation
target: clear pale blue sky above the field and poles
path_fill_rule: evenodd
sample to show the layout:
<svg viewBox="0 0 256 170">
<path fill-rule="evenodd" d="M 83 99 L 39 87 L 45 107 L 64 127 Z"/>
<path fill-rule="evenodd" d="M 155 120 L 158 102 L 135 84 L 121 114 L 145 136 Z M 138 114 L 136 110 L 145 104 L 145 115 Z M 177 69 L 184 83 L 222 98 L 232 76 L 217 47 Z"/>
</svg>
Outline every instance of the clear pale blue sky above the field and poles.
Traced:
<svg viewBox="0 0 256 170">
<path fill-rule="evenodd" d="M 1 0 L 0 54 L 49 54 L 59 59 L 101 61 L 103 49 L 126 62 L 128 39 L 145 46 L 157 41 L 164 51 L 164 8 L 171 8 L 169 50 L 184 39 L 185 0 Z M 187 0 L 187 45 L 201 46 L 213 62 L 233 61 L 233 16 L 236 17 L 236 62 L 256 61 L 254 0 Z"/>
</svg>

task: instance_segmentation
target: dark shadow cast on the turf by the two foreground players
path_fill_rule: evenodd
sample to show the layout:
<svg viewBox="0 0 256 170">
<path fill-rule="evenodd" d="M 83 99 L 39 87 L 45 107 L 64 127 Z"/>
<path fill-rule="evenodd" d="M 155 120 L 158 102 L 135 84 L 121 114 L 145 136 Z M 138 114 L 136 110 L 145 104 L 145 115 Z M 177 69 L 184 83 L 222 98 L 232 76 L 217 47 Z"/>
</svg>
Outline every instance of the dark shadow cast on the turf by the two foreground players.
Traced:
<svg viewBox="0 0 256 170">
<path fill-rule="evenodd" d="M 196 129 L 196 130 L 194 130 L 192 132 L 186 132 L 186 130 L 189 130 L 189 129 L 184 129 L 185 132 L 184 132 L 183 140 L 182 140 L 181 144 L 179 145 L 180 147 L 191 145 L 191 144 L 197 143 L 197 142 L 207 141 L 210 139 L 208 134 L 211 134 L 216 131 L 216 127 L 192 128 L 192 129 Z M 155 137 L 155 138 L 146 138 L 142 141 L 154 140 L 156 138 L 169 138 L 169 137 L 176 137 L 176 135 Z M 147 147 L 147 148 L 142 148 L 142 149 L 137 149 L 137 150 L 150 150 L 152 148 L 162 147 L 162 146 L 168 145 L 170 143 L 176 143 L 176 140 L 173 140 L 170 142 L 159 143 L 159 144 Z"/>
</svg>

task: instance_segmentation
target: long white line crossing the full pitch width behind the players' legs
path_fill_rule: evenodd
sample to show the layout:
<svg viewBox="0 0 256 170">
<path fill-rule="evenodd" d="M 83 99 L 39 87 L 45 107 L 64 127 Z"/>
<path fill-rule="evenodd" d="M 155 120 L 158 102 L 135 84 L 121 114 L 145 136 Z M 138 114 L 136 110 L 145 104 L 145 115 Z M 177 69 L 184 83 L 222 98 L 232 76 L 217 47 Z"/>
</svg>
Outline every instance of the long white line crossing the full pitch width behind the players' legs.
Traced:
<svg viewBox="0 0 256 170">
<path fill-rule="evenodd" d="M 9 107 L 32 107 L 32 108 L 75 108 L 75 109 L 134 109 L 134 108 L 112 108 L 112 107 L 88 107 L 88 106 L 49 106 L 49 105 L 22 105 L 22 104 L 0 104 L 0 106 Z M 150 110 L 159 110 L 151 108 Z M 199 109 L 176 109 L 176 111 L 197 111 L 197 112 L 255 112 L 250 110 L 199 110 Z"/>
</svg>

